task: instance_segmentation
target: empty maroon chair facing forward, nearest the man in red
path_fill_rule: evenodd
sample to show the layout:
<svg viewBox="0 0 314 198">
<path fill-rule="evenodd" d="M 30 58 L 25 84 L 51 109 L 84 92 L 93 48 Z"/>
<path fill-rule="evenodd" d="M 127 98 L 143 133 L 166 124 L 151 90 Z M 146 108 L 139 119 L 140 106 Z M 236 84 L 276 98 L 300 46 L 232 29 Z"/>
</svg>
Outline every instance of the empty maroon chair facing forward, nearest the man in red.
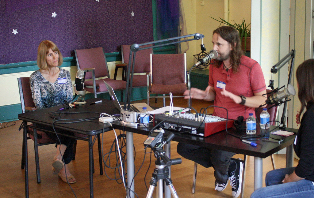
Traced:
<svg viewBox="0 0 314 198">
<path fill-rule="evenodd" d="M 187 81 L 186 54 L 151 54 L 150 75 L 147 77 L 147 104 L 149 98 L 184 97 L 183 93 L 190 85 Z M 162 96 L 156 96 L 156 94 Z M 188 100 L 190 106 L 190 100 Z"/>
</svg>

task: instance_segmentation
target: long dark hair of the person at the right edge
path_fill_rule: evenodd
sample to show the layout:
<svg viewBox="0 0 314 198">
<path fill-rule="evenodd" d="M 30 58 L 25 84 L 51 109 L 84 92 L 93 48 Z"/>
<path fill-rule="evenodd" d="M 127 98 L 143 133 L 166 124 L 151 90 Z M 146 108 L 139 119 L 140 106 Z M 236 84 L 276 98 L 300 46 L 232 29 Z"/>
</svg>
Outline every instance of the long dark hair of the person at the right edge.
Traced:
<svg viewBox="0 0 314 198">
<path fill-rule="evenodd" d="M 301 63 L 295 76 L 299 84 L 298 97 L 301 102 L 301 113 L 308 102 L 314 102 L 314 59 Z"/>
</svg>

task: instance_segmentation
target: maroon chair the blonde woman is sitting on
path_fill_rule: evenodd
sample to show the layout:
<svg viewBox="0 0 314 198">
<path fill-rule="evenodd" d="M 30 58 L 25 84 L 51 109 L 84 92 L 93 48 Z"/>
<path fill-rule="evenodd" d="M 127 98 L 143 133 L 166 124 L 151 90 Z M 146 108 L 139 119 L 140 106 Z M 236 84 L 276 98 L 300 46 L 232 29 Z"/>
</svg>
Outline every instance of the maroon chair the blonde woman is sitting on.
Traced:
<svg viewBox="0 0 314 198">
<path fill-rule="evenodd" d="M 32 92 L 30 90 L 30 78 L 29 77 L 21 77 L 18 78 L 18 85 L 19 85 L 19 93 L 20 93 L 20 99 L 21 99 L 21 107 L 22 112 L 27 111 L 35 111 L 35 104 L 33 102 L 32 98 Z M 21 128 L 24 129 L 24 126 L 22 126 L 24 122 L 21 124 Z M 31 125 L 31 124 L 30 124 Z M 55 144 L 56 141 L 52 140 L 47 136 L 47 134 L 43 131 L 36 130 L 37 138 L 34 138 L 34 129 L 33 128 L 27 128 L 27 130 L 24 130 L 23 133 L 26 133 L 27 131 L 27 139 L 32 139 L 34 141 L 34 150 L 35 150 L 35 164 L 36 164 L 36 176 L 37 176 L 37 183 L 39 184 L 41 182 L 40 178 L 40 168 L 39 168 L 39 154 L 38 154 L 38 146 L 47 145 L 47 144 Z M 23 146 L 22 146 L 22 162 L 21 162 L 21 169 L 25 168 L 25 150 L 24 150 L 24 134 L 23 134 Z M 82 137 L 82 136 L 80 136 Z M 102 158 L 101 158 L 101 144 L 100 144 L 100 136 L 98 137 L 98 150 L 99 150 L 99 160 L 100 160 L 100 175 L 103 175 L 103 169 L 102 169 Z M 73 160 L 75 159 L 76 154 L 76 142 L 73 145 Z M 94 166 L 94 162 L 93 162 Z"/>
</svg>

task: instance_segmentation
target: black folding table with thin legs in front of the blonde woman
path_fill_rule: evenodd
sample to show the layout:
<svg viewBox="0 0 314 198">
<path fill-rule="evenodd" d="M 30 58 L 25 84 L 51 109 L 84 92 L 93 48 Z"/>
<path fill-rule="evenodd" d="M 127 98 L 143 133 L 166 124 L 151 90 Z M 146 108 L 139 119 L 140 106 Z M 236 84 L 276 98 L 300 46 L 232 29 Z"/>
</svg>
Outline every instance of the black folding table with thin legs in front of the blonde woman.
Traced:
<svg viewBox="0 0 314 198">
<path fill-rule="evenodd" d="M 96 103 L 94 105 L 90 105 L 90 103 L 102 100 L 101 103 Z M 71 114 L 66 114 L 61 119 L 86 119 L 91 117 L 99 117 L 100 113 L 107 113 L 110 115 L 114 114 L 120 114 L 120 111 L 116 109 L 116 107 L 113 105 L 113 102 L 110 100 L 100 99 L 100 98 L 91 98 L 86 100 L 87 104 L 79 105 L 78 107 L 71 108 L 69 112 Z M 26 112 L 21 113 L 18 115 L 19 120 L 23 120 L 24 123 L 32 122 L 33 126 L 26 125 L 25 128 L 31 127 L 34 128 L 34 132 L 36 129 L 36 125 L 44 125 L 47 127 L 52 127 L 53 118 L 50 117 L 49 112 L 55 112 L 58 109 L 62 108 L 62 106 L 57 107 L 50 107 L 43 110 L 37 110 L 32 112 Z M 78 114 L 72 114 L 74 112 L 77 112 Z M 84 112 L 84 113 L 83 113 Z M 91 113 L 94 112 L 94 113 Z M 94 121 L 97 121 L 98 118 L 96 118 Z M 71 121 L 71 120 L 68 120 Z M 106 123 L 100 123 L 100 122 L 89 122 L 89 121 L 83 121 L 83 122 L 76 122 L 76 123 L 55 123 L 54 127 L 56 129 L 62 129 L 65 131 L 73 132 L 74 136 L 70 136 L 76 139 L 81 139 L 84 141 L 88 141 L 89 143 L 89 192 L 90 197 L 93 197 L 93 144 L 95 142 L 96 136 L 100 137 L 100 133 L 103 131 L 109 131 L 111 130 L 111 126 Z M 43 131 L 43 130 L 42 130 Z M 45 130 L 46 131 L 46 130 Z M 46 131 L 55 133 L 54 131 Z M 64 135 L 62 133 L 58 133 L 59 135 Z M 24 150 L 25 150 L 25 196 L 29 197 L 29 189 L 28 189 L 28 158 L 27 158 L 27 131 L 24 130 Z M 82 138 L 79 136 L 85 135 L 88 138 Z M 69 136 L 69 135 L 67 135 Z M 94 136 L 94 140 L 93 140 Z M 37 134 L 34 133 L 34 138 L 37 138 Z M 98 138 L 98 143 L 100 143 L 100 138 Z M 100 155 L 101 155 L 101 151 Z M 101 165 L 101 171 L 102 171 L 102 165 Z"/>
</svg>

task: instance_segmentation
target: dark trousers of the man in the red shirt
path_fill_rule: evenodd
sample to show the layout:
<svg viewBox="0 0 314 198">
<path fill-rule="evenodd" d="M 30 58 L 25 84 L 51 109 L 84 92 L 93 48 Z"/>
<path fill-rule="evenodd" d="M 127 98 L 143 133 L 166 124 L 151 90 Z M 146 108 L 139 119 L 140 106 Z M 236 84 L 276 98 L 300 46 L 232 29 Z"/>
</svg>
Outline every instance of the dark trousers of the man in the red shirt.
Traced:
<svg viewBox="0 0 314 198">
<path fill-rule="evenodd" d="M 182 157 L 190 159 L 206 168 L 215 169 L 214 176 L 219 184 L 226 183 L 229 177 L 229 165 L 233 163 L 230 159 L 236 153 L 228 151 L 208 149 L 187 143 L 178 143 L 177 152 Z"/>
</svg>

